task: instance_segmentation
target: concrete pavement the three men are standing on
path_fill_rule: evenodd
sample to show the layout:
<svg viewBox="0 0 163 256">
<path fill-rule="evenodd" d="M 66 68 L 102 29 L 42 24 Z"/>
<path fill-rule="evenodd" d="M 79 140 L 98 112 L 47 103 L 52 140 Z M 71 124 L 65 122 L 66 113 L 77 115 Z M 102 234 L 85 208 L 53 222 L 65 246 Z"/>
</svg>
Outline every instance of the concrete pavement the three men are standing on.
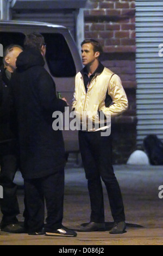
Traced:
<svg viewBox="0 0 163 256">
<path fill-rule="evenodd" d="M 114 166 L 126 209 L 127 233 L 110 235 L 112 217 L 104 188 L 105 222 L 107 231 L 79 233 L 77 237 L 29 236 L 1 232 L 0 245 L 163 245 L 163 199 L 159 186 L 163 185 L 163 166 Z M 22 185 L 17 173 L 15 182 Z M 163 194 L 163 193 L 162 193 Z M 23 190 L 18 189 L 18 201 L 23 221 Z M 83 168 L 67 164 L 65 169 L 64 222 L 68 228 L 89 222 L 90 203 Z"/>
</svg>

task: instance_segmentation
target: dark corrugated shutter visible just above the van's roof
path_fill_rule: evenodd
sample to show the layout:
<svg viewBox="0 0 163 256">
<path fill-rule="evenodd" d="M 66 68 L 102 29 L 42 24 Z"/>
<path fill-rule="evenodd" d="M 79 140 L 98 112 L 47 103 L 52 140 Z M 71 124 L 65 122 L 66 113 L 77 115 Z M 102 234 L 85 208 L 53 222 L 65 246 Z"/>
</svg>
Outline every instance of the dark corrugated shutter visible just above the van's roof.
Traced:
<svg viewBox="0 0 163 256">
<path fill-rule="evenodd" d="M 58 9 L 48 12 L 43 10 L 15 10 L 12 20 L 49 22 L 68 27 L 74 39 L 76 39 L 77 10 Z"/>
</svg>

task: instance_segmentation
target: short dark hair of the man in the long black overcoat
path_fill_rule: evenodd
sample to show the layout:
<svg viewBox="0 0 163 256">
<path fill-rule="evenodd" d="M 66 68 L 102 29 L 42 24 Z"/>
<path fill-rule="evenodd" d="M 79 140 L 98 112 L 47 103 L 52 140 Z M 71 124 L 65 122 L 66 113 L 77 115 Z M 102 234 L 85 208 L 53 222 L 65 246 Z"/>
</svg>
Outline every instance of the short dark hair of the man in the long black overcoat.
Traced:
<svg viewBox="0 0 163 256">
<path fill-rule="evenodd" d="M 30 48 L 35 48 L 40 51 L 42 45 L 44 44 L 45 44 L 45 39 L 43 35 L 36 32 L 26 35 L 26 38 L 24 40 L 24 48 L 26 50 Z"/>
</svg>

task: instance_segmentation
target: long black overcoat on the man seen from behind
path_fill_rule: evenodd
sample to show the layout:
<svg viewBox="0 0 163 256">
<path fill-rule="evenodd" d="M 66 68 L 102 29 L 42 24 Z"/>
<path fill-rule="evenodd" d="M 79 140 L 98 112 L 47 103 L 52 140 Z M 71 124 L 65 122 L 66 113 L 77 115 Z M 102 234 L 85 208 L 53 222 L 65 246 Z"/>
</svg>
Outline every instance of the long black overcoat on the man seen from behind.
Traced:
<svg viewBox="0 0 163 256">
<path fill-rule="evenodd" d="M 55 83 L 45 70 L 41 53 L 23 51 L 11 78 L 13 107 L 23 178 L 43 178 L 65 166 L 62 132 L 54 131 L 54 111 L 64 112 L 66 102 L 57 99 Z"/>
</svg>

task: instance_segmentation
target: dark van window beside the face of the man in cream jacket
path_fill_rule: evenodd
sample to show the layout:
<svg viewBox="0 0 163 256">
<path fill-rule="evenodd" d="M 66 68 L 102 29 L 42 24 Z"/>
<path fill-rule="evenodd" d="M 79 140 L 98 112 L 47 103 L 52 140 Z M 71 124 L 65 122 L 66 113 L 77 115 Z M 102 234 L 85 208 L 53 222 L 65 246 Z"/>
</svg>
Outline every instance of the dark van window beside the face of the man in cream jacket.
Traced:
<svg viewBox="0 0 163 256">
<path fill-rule="evenodd" d="M 62 34 L 42 34 L 47 45 L 46 60 L 54 77 L 73 77 L 76 66 Z"/>
</svg>

